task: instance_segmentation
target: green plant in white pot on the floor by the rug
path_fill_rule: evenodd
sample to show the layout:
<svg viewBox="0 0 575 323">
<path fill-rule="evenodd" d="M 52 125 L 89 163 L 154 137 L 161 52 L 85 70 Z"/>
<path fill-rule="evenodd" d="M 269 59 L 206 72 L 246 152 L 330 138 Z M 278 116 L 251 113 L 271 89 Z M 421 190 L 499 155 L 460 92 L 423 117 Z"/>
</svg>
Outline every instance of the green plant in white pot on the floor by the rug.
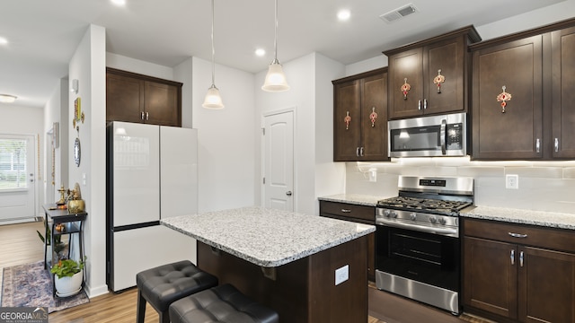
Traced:
<svg viewBox="0 0 575 323">
<path fill-rule="evenodd" d="M 50 273 L 54 274 L 56 294 L 59 297 L 72 296 L 82 289 L 84 281 L 84 259 L 62 259 L 52 266 Z"/>
</svg>

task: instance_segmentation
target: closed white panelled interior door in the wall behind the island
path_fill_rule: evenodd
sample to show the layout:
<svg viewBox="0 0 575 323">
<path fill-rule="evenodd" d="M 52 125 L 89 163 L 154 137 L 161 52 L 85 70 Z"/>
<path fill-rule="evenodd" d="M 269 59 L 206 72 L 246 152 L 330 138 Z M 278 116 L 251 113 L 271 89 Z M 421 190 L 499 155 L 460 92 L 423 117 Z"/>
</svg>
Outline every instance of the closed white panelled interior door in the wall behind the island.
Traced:
<svg viewBox="0 0 575 323">
<path fill-rule="evenodd" d="M 264 117 L 263 201 L 269 208 L 294 210 L 294 112 Z"/>
</svg>

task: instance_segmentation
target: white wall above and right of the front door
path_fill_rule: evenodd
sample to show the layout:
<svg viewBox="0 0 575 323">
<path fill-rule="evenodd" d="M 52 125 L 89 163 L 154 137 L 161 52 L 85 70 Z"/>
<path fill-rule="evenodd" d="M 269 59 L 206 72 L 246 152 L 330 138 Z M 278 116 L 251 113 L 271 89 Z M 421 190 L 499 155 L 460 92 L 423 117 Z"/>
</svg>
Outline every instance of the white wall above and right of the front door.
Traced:
<svg viewBox="0 0 575 323">
<path fill-rule="evenodd" d="M 35 163 L 36 166 L 36 214 L 44 216 L 42 204 L 44 201 L 44 146 L 46 133 L 38 132 L 44 128 L 44 110 L 39 108 L 13 106 L 0 103 L 0 133 L 12 135 L 33 135 L 36 141 L 36 153 L 40 152 Z M 40 169 L 40 170 L 39 170 Z"/>
</svg>

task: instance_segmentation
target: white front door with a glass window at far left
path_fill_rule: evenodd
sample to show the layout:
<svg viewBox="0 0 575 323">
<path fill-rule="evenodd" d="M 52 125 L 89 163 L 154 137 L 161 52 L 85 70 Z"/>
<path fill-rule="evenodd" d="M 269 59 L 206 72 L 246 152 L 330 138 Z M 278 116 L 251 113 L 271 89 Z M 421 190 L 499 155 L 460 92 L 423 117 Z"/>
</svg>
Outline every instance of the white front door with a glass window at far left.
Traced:
<svg viewBox="0 0 575 323">
<path fill-rule="evenodd" d="M 36 140 L 0 135 L 0 222 L 35 217 Z"/>
</svg>

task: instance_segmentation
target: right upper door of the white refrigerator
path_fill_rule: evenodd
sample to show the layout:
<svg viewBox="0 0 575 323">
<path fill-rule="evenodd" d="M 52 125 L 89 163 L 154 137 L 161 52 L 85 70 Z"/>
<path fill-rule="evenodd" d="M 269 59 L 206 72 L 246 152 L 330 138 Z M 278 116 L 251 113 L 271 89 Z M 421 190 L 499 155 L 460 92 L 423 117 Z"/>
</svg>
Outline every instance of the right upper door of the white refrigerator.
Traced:
<svg viewBox="0 0 575 323">
<path fill-rule="evenodd" d="M 198 130 L 160 127 L 160 217 L 198 213 Z"/>
</svg>

